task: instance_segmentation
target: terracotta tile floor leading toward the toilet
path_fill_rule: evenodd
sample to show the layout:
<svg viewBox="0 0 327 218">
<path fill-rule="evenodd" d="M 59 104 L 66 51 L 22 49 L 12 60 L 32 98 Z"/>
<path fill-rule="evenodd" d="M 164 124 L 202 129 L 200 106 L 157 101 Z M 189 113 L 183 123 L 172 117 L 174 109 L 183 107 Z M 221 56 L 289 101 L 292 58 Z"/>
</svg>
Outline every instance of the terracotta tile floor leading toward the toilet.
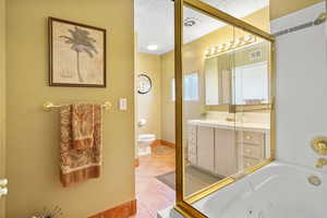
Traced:
<svg viewBox="0 0 327 218">
<path fill-rule="evenodd" d="M 137 214 L 134 218 L 156 218 L 157 211 L 174 203 L 175 192 L 155 177 L 174 170 L 174 149 L 155 146 L 152 155 L 140 157 L 135 170 Z"/>
</svg>

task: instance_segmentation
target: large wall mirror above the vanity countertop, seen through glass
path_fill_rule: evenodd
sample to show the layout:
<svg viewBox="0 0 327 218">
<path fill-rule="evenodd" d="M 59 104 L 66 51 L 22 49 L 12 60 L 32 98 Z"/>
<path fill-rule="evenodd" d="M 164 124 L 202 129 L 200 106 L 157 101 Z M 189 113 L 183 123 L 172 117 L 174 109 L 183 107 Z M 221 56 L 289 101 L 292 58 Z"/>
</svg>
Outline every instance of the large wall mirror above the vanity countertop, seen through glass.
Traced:
<svg viewBox="0 0 327 218">
<path fill-rule="evenodd" d="M 268 44 L 240 46 L 205 59 L 205 104 L 262 105 L 269 102 Z M 239 40 L 244 40 L 241 38 Z"/>
</svg>

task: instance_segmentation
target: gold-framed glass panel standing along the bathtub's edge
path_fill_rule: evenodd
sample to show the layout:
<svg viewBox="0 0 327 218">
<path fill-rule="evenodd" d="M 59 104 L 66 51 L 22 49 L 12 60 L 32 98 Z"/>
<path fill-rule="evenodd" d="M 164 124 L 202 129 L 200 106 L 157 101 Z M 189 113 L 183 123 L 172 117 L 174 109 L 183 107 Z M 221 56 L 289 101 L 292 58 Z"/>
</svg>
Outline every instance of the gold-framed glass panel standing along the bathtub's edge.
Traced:
<svg viewBox="0 0 327 218">
<path fill-rule="evenodd" d="M 175 35 L 177 208 L 217 217 L 208 208 L 223 205 L 206 198 L 275 158 L 275 39 L 202 1 L 179 0 L 175 7 L 175 25 L 202 21 Z M 198 38 L 190 40 L 191 34 Z M 183 98 L 183 72 L 194 70 L 198 99 L 190 101 Z"/>
</svg>

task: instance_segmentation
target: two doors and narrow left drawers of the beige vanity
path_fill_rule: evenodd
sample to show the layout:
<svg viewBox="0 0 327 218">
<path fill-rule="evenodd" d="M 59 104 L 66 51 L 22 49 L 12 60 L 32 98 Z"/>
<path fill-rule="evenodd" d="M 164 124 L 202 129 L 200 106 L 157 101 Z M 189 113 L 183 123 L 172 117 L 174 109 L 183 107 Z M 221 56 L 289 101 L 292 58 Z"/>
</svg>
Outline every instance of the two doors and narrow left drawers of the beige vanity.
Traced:
<svg viewBox="0 0 327 218">
<path fill-rule="evenodd" d="M 187 126 L 187 160 L 202 170 L 228 177 L 238 171 L 235 131 Z"/>
</svg>

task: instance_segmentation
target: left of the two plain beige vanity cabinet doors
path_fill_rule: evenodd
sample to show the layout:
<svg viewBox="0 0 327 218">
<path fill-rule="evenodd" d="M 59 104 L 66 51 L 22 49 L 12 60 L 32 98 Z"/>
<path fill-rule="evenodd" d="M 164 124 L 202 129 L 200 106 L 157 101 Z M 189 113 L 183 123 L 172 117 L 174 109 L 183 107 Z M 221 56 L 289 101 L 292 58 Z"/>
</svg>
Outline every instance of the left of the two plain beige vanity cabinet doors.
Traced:
<svg viewBox="0 0 327 218">
<path fill-rule="evenodd" d="M 215 172 L 215 129 L 197 126 L 197 166 Z"/>
</svg>

